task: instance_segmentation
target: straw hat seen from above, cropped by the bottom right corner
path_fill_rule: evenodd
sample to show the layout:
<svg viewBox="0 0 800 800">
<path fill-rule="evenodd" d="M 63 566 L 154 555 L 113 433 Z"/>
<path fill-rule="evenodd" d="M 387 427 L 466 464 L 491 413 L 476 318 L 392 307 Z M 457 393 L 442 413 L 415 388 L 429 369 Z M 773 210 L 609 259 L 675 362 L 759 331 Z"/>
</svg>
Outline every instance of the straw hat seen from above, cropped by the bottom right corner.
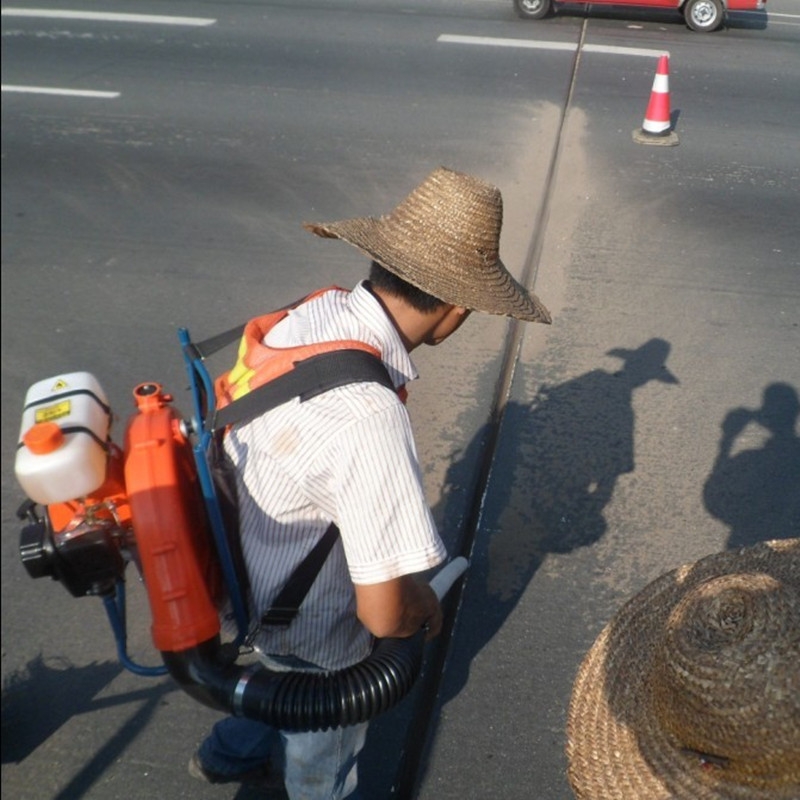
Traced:
<svg viewBox="0 0 800 800">
<path fill-rule="evenodd" d="M 630 600 L 581 665 L 567 738 L 578 800 L 798 800 L 800 539 Z"/>
</svg>

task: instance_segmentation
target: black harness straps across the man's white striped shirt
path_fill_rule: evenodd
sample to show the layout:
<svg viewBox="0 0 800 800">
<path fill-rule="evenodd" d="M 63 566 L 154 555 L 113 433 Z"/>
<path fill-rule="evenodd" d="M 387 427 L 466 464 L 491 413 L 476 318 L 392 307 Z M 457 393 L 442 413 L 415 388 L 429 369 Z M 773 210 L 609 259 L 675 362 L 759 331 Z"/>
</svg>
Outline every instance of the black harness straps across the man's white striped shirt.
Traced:
<svg viewBox="0 0 800 800">
<path fill-rule="evenodd" d="M 232 332 L 226 331 L 221 337 Z M 366 381 L 395 390 L 383 362 L 366 350 L 351 348 L 312 356 L 298 361 L 291 372 L 256 387 L 218 411 L 211 429 L 217 432 L 228 425 L 249 421 L 293 397 L 299 397 L 302 402 L 337 386 Z M 291 624 L 338 537 L 339 529 L 331 523 L 262 615 L 262 625 Z"/>
</svg>

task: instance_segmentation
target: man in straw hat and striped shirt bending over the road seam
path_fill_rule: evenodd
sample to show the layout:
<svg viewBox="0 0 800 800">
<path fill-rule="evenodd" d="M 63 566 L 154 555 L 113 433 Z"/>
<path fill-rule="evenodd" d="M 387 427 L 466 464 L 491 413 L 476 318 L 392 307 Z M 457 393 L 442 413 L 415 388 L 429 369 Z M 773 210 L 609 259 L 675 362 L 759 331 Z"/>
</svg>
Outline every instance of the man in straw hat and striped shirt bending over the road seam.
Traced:
<svg viewBox="0 0 800 800">
<path fill-rule="evenodd" d="M 258 631 L 256 647 L 271 668 L 341 669 L 364 659 L 375 637 L 411 636 L 421 627 L 438 634 L 439 602 L 418 575 L 446 552 L 401 396 L 417 377 L 410 353 L 443 342 L 473 310 L 550 322 L 539 299 L 500 262 L 501 224 L 497 188 L 439 168 L 387 216 L 305 225 L 368 255 L 369 280 L 299 304 L 244 348 L 229 388 L 235 394 L 236 381 L 246 381 L 256 362 L 286 348 L 356 341 L 380 353 L 398 393 L 348 384 L 285 403 L 226 438 L 239 473 L 255 618 L 331 521 L 340 530 L 300 614 L 288 627 Z M 289 733 L 231 717 L 214 726 L 190 772 L 211 783 L 263 776 L 280 743 L 292 800 L 352 800 L 366 728 Z"/>
</svg>

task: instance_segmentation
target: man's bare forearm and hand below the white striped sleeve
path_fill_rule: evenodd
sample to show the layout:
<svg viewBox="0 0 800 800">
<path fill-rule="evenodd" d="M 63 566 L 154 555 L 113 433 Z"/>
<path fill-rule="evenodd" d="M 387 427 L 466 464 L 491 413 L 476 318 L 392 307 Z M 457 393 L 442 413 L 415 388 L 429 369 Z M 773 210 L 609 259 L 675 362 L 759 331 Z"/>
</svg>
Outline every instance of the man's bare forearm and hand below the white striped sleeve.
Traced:
<svg viewBox="0 0 800 800">
<path fill-rule="evenodd" d="M 379 639 L 413 636 L 421 628 L 426 639 L 442 629 L 439 599 L 425 581 L 404 575 L 383 583 L 356 584 L 356 613 Z"/>
</svg>

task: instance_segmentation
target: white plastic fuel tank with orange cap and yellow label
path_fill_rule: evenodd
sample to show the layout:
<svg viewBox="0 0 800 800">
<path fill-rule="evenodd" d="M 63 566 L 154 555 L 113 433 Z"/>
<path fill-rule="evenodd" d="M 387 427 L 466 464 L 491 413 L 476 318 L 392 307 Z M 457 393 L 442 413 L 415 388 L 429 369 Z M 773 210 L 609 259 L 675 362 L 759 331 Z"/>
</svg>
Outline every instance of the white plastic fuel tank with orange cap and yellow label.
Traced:
<svg viewBox="0 0 800 800">
<path fill-rule="evenodd" d="M 88 372 L 56 375 L 25 395 L 14 471 L 25 494 L 49 505 L 85 497 L 106 477 L 111 410 Z"/>
</svg>

